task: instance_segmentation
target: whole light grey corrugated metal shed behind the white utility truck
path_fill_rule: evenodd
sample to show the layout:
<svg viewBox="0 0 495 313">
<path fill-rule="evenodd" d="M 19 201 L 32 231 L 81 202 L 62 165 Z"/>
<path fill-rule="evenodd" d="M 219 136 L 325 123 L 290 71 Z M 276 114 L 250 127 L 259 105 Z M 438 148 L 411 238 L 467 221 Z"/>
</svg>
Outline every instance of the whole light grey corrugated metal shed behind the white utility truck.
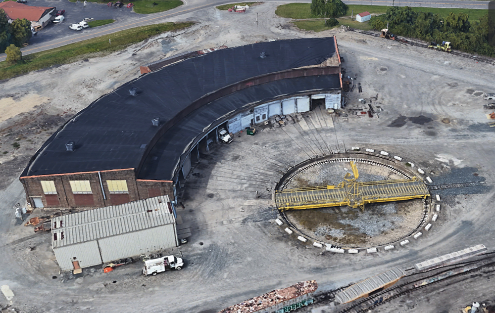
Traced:
<svg viewBox="0 0 495 313">
<path fill-rule="evenodd" d="M 178 246 L 168 196 L 53 218 L 51 246 L 61 271 Z"/>
</svg>

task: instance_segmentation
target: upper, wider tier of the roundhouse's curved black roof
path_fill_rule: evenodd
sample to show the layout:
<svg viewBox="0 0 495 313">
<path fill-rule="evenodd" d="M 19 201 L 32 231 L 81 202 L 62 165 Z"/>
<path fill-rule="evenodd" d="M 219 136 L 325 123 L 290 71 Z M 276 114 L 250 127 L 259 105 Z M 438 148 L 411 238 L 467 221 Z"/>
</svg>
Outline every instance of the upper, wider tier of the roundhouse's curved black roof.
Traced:
<svg viewBox="0 0 495 313">
<path fill-rule="evenodd" d="M 66 122 L 21 177 L 138 169 L 163 125 L 201 97 L 253 77 L 321 64 L 335 51 L 333 37 L 264 42 L 210 52 L 145 74 Z M 139 94 L 131 96 L 131 88 Z M 152 126 L 154 117 L 160 117 L 161 127 Z M 75 142 L 75 151 L 66 151 L 69 141 Z"/>
</svg>

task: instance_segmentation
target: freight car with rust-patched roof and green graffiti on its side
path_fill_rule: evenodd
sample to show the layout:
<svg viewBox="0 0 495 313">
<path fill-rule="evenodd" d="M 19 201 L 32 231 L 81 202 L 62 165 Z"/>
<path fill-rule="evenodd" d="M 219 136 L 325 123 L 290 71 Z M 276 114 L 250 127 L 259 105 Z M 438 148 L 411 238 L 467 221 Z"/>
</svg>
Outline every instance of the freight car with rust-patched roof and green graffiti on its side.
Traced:
<svg viewBox="0 0 495 313">
<path fill-rule="evenodd" d="M 314 302 L 318 288 L 315 280 L 301 281 L 284 289 L 275 289 L 262 296 L 243 301 L 219 313 L 287 313 Z"/>
</svg>

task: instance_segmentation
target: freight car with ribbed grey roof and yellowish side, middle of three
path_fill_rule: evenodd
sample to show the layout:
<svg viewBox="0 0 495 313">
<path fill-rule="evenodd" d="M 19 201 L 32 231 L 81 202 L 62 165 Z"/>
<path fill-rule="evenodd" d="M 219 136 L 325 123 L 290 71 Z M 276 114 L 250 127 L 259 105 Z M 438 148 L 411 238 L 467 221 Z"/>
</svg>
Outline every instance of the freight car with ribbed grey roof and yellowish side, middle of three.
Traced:
<svg viewBox="0 0 495 313">
<path fill-rule="evenodd" d="M 357 284 L 353 284 L 349 288 L 336 294 L 335 300 L 340 304 L 344 304 L 359 298 L 368 297 L 373 291 L 392 286 L 403 276 L 405 276 L 405 272 L 402 269 L 392 268 L 384 273 L 362 280 Z"/>
</svg>

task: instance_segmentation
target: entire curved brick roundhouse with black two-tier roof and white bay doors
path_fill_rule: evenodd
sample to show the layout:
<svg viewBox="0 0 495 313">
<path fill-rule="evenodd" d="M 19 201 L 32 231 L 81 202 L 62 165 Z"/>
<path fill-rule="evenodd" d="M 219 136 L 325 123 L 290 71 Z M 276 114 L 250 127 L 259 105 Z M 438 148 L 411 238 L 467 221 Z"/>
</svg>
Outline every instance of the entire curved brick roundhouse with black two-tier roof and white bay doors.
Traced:
<svg viewBox="0 0 495 313">
<path fill-rule="evenodd" d="M 221 49 L 171 64 L 101 96 L 62 125 L 21 174 L 32 207 L 85 210 L 168 195 L 218 129 L 341 106 L 335 37 Z"/>
</svg>

